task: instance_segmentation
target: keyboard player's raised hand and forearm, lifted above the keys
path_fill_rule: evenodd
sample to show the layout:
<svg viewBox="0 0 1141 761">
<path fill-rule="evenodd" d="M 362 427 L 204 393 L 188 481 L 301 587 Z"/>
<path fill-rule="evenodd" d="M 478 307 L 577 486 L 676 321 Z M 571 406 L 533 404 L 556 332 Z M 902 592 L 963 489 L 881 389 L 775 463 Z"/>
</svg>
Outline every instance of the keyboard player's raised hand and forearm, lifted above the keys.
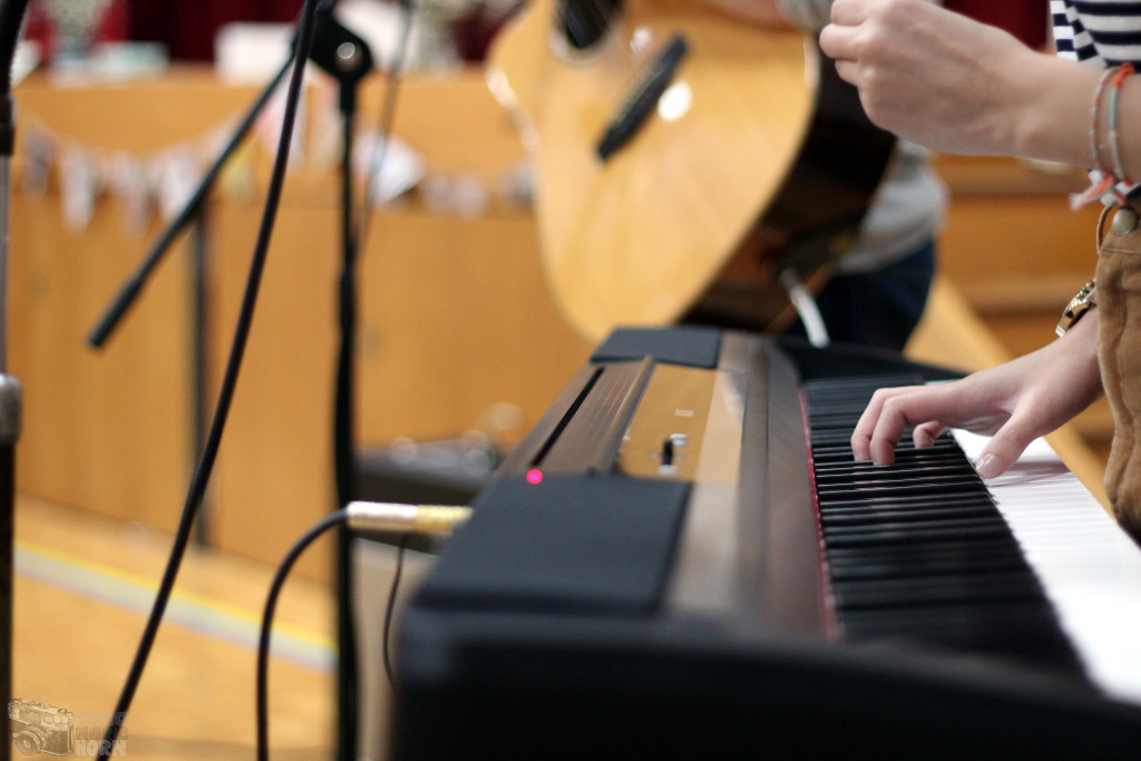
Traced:
<svg viewBox="0 0 1141 761">
<path fill-rule="evenodd" d="M 1099 67 L 919 0 L 835 0 L 832 19 L 820 46 L 881 127 L 947 153 L 1093 164 Z M 1141 177 L 1141 80 L 1126 80 L 1118 96 L 1123 173 Z M 1101 111 L 1098 140 L 1111 167 L 1109 108 Z"/>
</svg>

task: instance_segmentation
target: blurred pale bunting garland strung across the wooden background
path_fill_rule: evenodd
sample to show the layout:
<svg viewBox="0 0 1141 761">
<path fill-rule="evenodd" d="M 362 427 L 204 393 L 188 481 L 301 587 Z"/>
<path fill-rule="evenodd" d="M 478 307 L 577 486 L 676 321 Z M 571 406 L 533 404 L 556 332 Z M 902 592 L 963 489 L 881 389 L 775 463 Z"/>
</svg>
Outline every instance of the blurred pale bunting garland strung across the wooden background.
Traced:
<svg viewBox="0 0 1141 761">
<path fill-rule="evenodd" d="M 318 116 L 310 127 L 306 123 L 306 110 L 299 112 L 289 167 L 296 169 L 305 164 L 318 173 L 337 171 L 341 136 L 337 127 L 340 116 L 334 105 L 335 91 L 319 84 L 313 89 L 316 90 L 313 96 L 318 98 L 317 113 L 327 113 L 329 118 Z M 251 131 L 253 145 L 243 146 L 230 156 L 216 191 L 230 199 L 254 199 L 258 153 L 273 156 L 277 149 L 282 95 L 278 90 L 270 98 Z M 22 112 L 17 146 L 23 160 L 21 189 L 47 200 L 48 189 L 57 187 L 64 225 L 73 233 L 90 225 L 99 211 L 99 200 L 107 197 L 115 202 L 113 208 L 121 216 L 123 229 L 145 235 L 156 216 L 169 222 L 181 212 L 202 177 L 232 139 L 236 121 L 235 118 L 202 136 L 159 151 L 133 153 L 86 145 L 34 114 Z M 477 177 L 432 171 L 399 137 L 390 136 L 386 145 L 385 136 L 374 127 L 358 127 L 354 141 L 353 173 L 361 185 L 372 178 L 370 196 L 375 208 L 393 204 L 413 189 L 419 192 L 428 210 L 468 218 L 486 213 L 495 199 L 512 207 L 529 205 L 531 178 L 526 165 L 512 168 L 499 186 L 488 187 Z"/>
</svg>

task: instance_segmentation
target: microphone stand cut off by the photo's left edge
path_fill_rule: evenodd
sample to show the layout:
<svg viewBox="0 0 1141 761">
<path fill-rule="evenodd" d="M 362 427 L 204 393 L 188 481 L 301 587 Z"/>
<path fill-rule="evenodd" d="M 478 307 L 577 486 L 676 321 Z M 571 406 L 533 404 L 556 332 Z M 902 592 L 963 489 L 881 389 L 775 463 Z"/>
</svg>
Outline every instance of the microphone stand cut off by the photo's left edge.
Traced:
<svg viewBox="0 0 1141 761">
<path fill-rule="evenodd" d="M 16 442 L 19 438 L 19 382 L 8 374 L 8 241 L 11 207 L 11 156 L 16 147 L 16 113 L 11 98 L 11 67 L 29 0 L 0 6 L 0 707 L 11 701 L 13 544 L 16 528 Z M 0 739 L 0 761 L 10 758 L 8 732 Z"/>
</svg>

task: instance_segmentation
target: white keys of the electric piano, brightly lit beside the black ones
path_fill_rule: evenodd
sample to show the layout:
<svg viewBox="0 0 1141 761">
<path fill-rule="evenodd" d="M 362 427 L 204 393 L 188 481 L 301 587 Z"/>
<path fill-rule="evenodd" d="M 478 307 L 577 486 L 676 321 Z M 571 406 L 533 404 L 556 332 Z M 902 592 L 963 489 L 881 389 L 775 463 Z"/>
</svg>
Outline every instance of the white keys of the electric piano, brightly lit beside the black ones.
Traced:
<svg viewBox="0 0 1141 761">
<path fill-rule="evenodd" d="M 987 437 L 954 431 L 974 462 Z M 1045 439 L 987 481 L 1091 680 L 1141 703 L 1141 548 Z"/>
</svg>

